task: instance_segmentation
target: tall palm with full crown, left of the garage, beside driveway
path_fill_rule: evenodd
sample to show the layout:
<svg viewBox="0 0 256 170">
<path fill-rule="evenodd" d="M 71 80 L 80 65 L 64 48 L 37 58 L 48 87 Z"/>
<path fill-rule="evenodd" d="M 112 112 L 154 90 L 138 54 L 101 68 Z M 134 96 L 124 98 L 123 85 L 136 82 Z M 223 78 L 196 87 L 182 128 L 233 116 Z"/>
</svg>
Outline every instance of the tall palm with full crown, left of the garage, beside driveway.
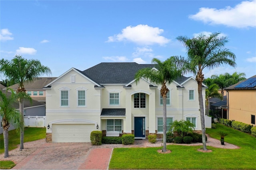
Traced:
<svg viewBox="0 0 256 170">
<path fill-rule="evenodd" d="M 20 115 L 22 121 L 24 120 L 24 96 L 26 95 L 26 89 L 24 88 L 24 82 L 33 82 L 36 77 L 43 74 L 51 74 L 49 67 L 46 67 L 35 59 L 24 59 L 20 55 L 15 55 L 11 61 L 1 59 L 0 60 L 0 72 L 2 72 L 8 79 L 18 82 L 19 87 L 16 93 L 19 95 Z M 20 150 L 24 148 L 24 124 L 20 127 Z"/>
</svg>

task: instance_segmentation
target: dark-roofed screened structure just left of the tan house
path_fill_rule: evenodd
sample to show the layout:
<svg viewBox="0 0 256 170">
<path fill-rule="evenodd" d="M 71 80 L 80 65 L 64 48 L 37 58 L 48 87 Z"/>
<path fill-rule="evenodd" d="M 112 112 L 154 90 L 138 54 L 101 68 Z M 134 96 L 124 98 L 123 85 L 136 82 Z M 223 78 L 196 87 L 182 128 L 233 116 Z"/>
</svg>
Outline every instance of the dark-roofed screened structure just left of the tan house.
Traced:
<svg viewBox="0 0 256 170">
<path fill-rule="evenodd" d="M 210 98 L 210 110 L 211 114 L 216 118 L 227 119 L 227 96 L 223 96 L 223 100 L 218 99 L 217 97 Z"/>
</svg>

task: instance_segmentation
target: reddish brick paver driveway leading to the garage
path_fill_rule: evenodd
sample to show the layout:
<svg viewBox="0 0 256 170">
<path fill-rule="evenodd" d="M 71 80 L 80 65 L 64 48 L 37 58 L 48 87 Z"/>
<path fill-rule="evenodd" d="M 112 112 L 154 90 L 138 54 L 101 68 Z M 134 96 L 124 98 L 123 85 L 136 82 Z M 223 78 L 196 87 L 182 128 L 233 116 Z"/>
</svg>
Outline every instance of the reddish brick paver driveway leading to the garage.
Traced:
<svg viewBox="0 0 256 170">
<path fill-rule="evenodd" d="M 107 169 L 112 148 L 88 143 L 46 143 L 12 169 L 72 170 Z"/>
</svg>

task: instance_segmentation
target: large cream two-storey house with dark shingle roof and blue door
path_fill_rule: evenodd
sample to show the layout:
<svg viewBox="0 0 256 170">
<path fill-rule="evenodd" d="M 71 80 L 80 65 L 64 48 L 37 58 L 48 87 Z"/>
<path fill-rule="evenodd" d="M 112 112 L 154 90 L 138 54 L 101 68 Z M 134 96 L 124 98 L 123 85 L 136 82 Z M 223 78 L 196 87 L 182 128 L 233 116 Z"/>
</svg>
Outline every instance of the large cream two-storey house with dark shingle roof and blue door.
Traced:
<svg viewBox="0 0 256 170">
<path fill-rule="evenodd" d="M 46 85 L 46 141 L 90 142 L 90 133 L 105 136 L 163 133 L 161 85 L 135 73 L 152 64 L 100 63 L 80 71 L 71 68 Z M 189 120 L 201 130 L 198 84 L 184 77 L 167 85 L 167 128 L 174 120 Z M 203 98 L 205 89 L 203 85 Z M 204 105 L 205 107 L 205 105 Z"/>
</svg>

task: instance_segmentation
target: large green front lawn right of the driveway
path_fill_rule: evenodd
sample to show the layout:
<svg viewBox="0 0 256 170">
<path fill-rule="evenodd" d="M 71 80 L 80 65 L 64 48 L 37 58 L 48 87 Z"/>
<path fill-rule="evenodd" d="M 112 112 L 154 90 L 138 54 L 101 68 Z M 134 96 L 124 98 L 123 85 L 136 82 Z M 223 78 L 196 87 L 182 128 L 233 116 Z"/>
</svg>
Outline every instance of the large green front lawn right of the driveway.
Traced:
<svg viewBox="0 0 256 170">
<path fill-rule="evenodd" d="M 158 148 L 114 148 L 109 169 L 256 169 L 256 138 L 218 124 L 206 129 L 211 137 L 220 139 L 219 130 L 228 132 L 225 142 L 239 149 L 207 146 L 212 152 L 198 152 L 202 146 L 167 145 L 170 154 L 160 154 Z"/>
</svg>

